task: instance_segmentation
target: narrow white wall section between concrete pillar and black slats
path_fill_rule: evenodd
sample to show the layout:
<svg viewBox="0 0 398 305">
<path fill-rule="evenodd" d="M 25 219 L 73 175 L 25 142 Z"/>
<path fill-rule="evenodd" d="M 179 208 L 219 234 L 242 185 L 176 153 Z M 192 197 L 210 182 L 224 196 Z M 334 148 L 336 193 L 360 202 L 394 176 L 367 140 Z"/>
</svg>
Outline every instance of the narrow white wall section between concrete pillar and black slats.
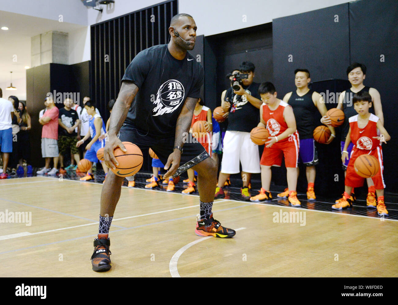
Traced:
<svg viewBox="0 0 398 305">
<path fill-rule="evenodd" d="M 68 33 L 68 59 L 69 65 L 91 59 L 89 26 Z"/>
</svg>

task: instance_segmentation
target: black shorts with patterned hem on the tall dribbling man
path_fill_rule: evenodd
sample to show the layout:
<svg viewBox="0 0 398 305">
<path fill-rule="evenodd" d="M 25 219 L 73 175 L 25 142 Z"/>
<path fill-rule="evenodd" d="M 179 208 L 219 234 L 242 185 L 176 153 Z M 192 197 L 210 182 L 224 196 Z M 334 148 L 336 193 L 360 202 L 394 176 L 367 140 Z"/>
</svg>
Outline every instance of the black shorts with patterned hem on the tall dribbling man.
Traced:
<svg viewBox="0 0 398 305">
<path fill-rule="evenodd" d="M 169 155 L 173 152 L 175 140 L 174 135 L 170 137 L 145 135 L 145 133 L 138 132 L 133 125 L 126 122 L 123 123 L 117 137 L 122 142 L 127 141 L 137 145 L 141 151 L 148 151 L 151 148 L 164 165 L 166 165 Z M 210 156 L 203 145 L 196 138 L 192 137 L 191 133 L 185 137 L 185 140 L 179 168 L 173 175 L 174 178 Z"/>
</svg>

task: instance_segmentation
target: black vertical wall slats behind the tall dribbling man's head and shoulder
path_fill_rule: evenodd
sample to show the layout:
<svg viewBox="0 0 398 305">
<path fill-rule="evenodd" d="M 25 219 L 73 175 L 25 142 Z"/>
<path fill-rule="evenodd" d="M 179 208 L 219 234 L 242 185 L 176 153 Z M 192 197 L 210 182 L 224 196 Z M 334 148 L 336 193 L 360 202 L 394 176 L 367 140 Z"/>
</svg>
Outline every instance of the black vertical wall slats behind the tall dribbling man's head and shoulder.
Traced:
<svg viewBox="0 0 398 305">
<path fill-rule="evenodd" d="M 90 96 L 104 120 L 109 117 L 107 104 L 117 98 L 131 60 L 143 49 L 168 43 L 168 25 L 175 14 L 177 0 L 171 0 L 91 26 Z"/>
</svg>

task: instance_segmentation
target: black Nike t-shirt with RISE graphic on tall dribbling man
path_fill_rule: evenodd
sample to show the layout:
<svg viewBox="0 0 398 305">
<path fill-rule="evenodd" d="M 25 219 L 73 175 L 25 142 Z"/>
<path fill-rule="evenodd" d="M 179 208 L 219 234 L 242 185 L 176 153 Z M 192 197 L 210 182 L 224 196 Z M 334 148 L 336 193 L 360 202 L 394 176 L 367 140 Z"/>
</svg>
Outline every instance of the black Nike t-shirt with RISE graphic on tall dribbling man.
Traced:
<svg viewBox="0 0 398 305">
<path fill-rule="evenodd" d="M 122 78 L 139 88 L 126 121 L 143 135 L 174 136 L 186 98 L 200 98 L 204 72 L 188 52 L 175 59 L 167 45 L 155 45 L 134 57 Z"/>
</svg>

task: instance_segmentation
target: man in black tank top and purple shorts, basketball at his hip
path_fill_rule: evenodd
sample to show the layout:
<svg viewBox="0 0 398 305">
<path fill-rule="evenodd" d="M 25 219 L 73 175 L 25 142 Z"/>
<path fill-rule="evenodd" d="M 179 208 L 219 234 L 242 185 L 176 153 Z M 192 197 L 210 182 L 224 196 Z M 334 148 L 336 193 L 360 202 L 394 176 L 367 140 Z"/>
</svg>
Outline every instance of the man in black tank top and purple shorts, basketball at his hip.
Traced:
<svg viewBox="0 0 398 305">
<path fill-rule="evenodd" d="M 306 176 L 308 182 L 307 199 L 315 200 L 315 165 L 318 164 L 318 154 L 316 152 L 314 137 L 312 135 L 316 127 L 314 117 L 316 111 L 319 111 L 320 114 L 324 116 L 328 109 L 326 109 L 322 96 L 318 92 L 308 88 L 310 81 L 310 72 L 307 69 L 296 69 L 295 84 L 297 90 L 286 94 L 283 101 L 292 106 L 293 113 L 295 114 L 298 136 L 300 138 L 298 162 L 302 162 L 306 165 Z M 328 128 L 332 135 L 326 144 L 332 142 L 336 134 L 331 125 L 328 125 Z M 278 197 L 285 197 L 287 191 L 288 190 L 285 190 L 285 192 L 278 194 Z"/>
</svg>

